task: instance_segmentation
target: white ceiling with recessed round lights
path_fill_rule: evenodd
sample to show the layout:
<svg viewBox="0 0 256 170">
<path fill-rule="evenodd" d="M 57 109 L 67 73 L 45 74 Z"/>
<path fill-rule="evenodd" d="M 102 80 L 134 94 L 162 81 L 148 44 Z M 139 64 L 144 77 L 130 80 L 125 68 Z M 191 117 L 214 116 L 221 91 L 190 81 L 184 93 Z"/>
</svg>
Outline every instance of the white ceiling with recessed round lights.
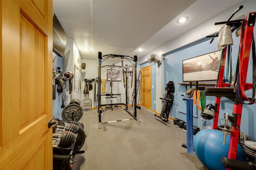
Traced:
<svg viewBox="0 0 256 170">
<path fill-rule="evenodd" d="M 53 12 L 83 59 L 98 60 L 98 51 L 140 58 L 242 1 L 53 0 Z"/>
</svg>

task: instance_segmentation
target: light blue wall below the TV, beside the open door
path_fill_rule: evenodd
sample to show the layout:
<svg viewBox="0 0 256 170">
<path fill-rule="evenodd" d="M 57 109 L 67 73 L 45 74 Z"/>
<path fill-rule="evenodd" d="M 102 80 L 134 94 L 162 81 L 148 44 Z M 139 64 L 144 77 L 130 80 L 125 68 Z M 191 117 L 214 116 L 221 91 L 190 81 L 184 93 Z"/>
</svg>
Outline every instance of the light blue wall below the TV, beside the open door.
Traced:
<svg viewBox="0 0 256 170">
<path fill-rule="evenodd" d="M 56 57 L 56 58 L 55 58 Z M 54 60 L 55 58 L 55 60 Z M 64 58 L 56 56 L 55 53 L 52 53 L 52 61 L 54 60 L 54 62 L 52 63 L 52 68 L 57 68 L 60 67 L 61 69 L 64 70 Z M 55 100 L 52 100 L 52 117 L 58 117 L 60 119 L 62 119 L 61 117 L 61 113 L 63 108 L 61 108 L 61 104 L 62 104 L 62 98 L 60 97 L 60 104 L 58 102 L 58 93 L 56 91 L 57 89 L 57 85 L 55 85 Z"/>
</svg>

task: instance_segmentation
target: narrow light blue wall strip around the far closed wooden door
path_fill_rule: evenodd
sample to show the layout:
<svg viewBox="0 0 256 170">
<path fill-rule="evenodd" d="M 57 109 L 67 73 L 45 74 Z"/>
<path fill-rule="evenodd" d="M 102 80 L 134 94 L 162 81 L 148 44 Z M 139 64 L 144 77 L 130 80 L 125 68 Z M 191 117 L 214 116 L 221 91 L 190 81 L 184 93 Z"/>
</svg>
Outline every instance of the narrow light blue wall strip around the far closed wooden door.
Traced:
<svg viewBox="0 0 256 170">
<path fill-rule="evenodd" d="M 140 64 L 140 69 L 149 65 L 148 62 L 142 63 Z M 156 101 L 156 67 L 156 65 L 151 66 L 151 109 L 153 110 L 156 110 L 156 104 L 154 104 L 154 101 Z"/>
</svg>

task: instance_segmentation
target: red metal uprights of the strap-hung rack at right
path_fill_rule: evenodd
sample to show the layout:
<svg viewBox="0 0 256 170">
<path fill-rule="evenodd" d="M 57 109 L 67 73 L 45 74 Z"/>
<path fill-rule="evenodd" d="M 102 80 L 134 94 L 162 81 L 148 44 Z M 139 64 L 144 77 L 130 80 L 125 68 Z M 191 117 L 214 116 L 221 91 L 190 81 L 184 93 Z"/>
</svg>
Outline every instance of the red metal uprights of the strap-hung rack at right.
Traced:
<svg viewBox="0 0 256 170">
<path fill-rule="evenodd" d="M 249 56 L 250 56 L 250 49 L 252 44 L 252 36 L 253 36 L 253 29 L 254 25 L 248 25 L 248 18 L 250 15 L 256 15 L 256 12 L 250 13 L 246 19 L 243 21 L 245 22 L 244 32 L 241 33 L 240 39 L 240 60 L 239 60 L 239 87 L 240 87 L 240 97 L 241 99 L 248 98 L 245 96 L 244 91 L 252 89 L 252 83 L 246 83 L 246 76 L 247 76 L 247 69 L 249 63 Z M 242 24 L 243 25 L 243 24 Z M 223 83 L 224 77 L 224 67 L 225 67 L 225 60 L 226 60 L 226 48 L 223 49 L 223 56 L 222 56 L 222 63 L 219 70 L 218 82 L 216 88 L 224 88 L 230 86 L 230 83 Z M 220 98 L 216 96 L 215 98 L 215 117 L 213 120 L 212 129 L 218 128 L 218 117 L 219 117 L 219 110 L 220 110 Z M 235 102 L 233 115 L 235 117 L 234 123 L 232 123 L 232 133 L 230 135 L 230 144 L 228 150 L 228 158 L 236 159 L 237 154 L 237 147 L 238 147 L 238 140 L 240 138 L 240 123 L 241 123 L 241 116 L 242 116 L 242 107 L 243 104 L 240 102 Z M 228 169 L 227 169 L 228 170 Z"/>
</svg>

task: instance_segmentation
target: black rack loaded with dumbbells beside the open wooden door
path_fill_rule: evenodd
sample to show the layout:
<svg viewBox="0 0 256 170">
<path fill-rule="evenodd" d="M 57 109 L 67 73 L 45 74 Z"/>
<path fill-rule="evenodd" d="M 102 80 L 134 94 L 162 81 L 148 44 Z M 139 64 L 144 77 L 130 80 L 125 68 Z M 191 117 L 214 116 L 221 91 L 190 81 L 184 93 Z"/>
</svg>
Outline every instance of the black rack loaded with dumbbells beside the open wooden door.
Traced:
<svg viewBox="0 0 256 170">
<path fill-rule="evenodd" d="M 80 150 L 83 145 L 80 143 L 83 140 L 82 136 L 84 135 L 86 138 L 85 133 L 82 133 L 84 132 L 84 125 L 78 122 L 76 122 L 78 124 L 75 125 L 73 124 L 74 122 L 71 122 L 65 127 L 64 121 L 61 121 L 59 118 L 54 118 L 53 120 L 54 121 L 50 120 L 48 123 L 48 127 L 54 125 L 52 142 L 53 169 L 71 170 L 73 163 L 76 162 L 76 160 L 72 160 L 75 155 L 84 153 L 84 150 Z"/>
</svg>

